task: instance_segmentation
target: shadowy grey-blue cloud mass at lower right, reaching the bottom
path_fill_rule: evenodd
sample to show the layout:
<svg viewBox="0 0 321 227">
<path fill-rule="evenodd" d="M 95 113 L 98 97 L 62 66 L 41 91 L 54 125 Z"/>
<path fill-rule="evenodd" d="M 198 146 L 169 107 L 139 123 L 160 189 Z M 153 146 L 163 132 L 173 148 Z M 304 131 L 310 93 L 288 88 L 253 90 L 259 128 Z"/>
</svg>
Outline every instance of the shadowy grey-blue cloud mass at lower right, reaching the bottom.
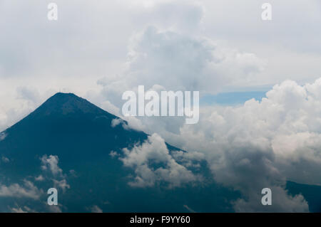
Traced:
<svg viewBox="0 0 321 227">
<path fill-rule="evenodd" d="M 220 163 L 213 160 L 211 168 L 216 181 L 232 186 L 243 194 L 233 202 L 238 212 L 307 212 L 303 196 L 290 196 L 285 190 L 286 175 L 275 167 L 275 156 L 260 145 L 240 142 L 224 151 Z M 263 188 L 272 190 L 272 206 L 261 204 Z"/>
</svg>

